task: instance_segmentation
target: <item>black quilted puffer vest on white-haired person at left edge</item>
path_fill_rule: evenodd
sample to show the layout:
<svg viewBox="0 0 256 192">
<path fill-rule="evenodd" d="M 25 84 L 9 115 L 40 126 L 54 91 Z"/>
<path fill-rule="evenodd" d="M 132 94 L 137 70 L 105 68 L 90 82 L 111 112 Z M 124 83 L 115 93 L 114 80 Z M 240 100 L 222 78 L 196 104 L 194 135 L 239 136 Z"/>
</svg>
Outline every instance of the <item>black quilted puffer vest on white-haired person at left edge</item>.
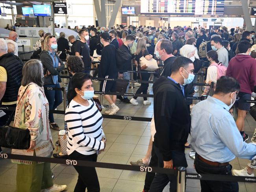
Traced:
<svg viewBox="0 0 256 192">
<path fill-rule="evenodd" d="M 1 102 L 15 102 L 21 84 L 23 63 L 13 53 L 7 53 L 0 57 L 0 66 L 7 72 L 6 91 Z"/>
</svg>

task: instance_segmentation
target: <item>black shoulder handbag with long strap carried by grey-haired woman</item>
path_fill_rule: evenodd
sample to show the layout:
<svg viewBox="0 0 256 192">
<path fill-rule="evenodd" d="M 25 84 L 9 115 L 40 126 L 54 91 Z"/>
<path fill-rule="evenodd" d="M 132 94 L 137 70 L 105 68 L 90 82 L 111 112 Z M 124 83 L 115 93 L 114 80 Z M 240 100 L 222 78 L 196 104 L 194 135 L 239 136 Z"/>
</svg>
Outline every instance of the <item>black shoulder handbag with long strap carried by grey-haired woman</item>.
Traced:
<svg viewBox="0 0 256 192">
<path fill-rule="evenodd" d="M 30 85 L 31 84 L 29 84 L 28 87 Z M 24 96 L 28 87 L 26 87 L 26 89 L 24 90 L 22 96 L 20 97 L 20 100 Z M 19 102 L 17 103 L 17 105 L 19 104 Z M 15 113 L 15 110 L 9 116 L 6 125 L 0 127 L 0 146 L 17 150 L 26 150 L 30 148 L 30 130 L 9 126 L 13 113 Z"/>
</svg>

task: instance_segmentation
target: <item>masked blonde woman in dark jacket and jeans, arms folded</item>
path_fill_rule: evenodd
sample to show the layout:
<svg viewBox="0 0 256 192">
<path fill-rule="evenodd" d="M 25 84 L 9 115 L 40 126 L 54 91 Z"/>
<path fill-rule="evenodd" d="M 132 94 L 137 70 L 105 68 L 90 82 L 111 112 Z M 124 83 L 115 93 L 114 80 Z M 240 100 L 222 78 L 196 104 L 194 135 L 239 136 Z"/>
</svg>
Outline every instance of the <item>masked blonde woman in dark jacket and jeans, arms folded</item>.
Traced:
<svg viewBox="0 0 256 192">
<path fill-rule="evenodd" d="M 48 35 L 45 37 L 44 44 L 42 46 L 43 51 L 40 54 L 40 59 L 44 67 L 44 88 L 45 95 L 49 102 L 50 110 L 56 109 L 62 103 L 62 92 L 61 90 L 52 90 L 49 88 L 60 88 L 59 72 L 64 69 L 64 64 L 56 54 L 57 41 L 55 36 Z M 54 130 L 59 131 L 59 126 L 54 122 L 54 116 L 52 113 L 49 114 L 50 127 Z"/>
</svg>

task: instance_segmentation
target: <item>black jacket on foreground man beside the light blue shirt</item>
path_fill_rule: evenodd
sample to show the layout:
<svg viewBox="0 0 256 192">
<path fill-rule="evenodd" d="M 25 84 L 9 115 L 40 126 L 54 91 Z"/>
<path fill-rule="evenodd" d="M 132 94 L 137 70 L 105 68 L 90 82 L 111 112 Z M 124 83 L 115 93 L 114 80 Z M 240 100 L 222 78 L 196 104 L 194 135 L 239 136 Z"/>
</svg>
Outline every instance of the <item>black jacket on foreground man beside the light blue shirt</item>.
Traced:
<svg viewBox="0 0 256 192">
<path fill-rule="evenodd" d="M 163 161 L 170 161 L 172 151 L 185 150 L 191 118 L 179 84 L 160 77 L 153 85 L 153 92 L 154 144 L 163 155 Z"/>
</svg>

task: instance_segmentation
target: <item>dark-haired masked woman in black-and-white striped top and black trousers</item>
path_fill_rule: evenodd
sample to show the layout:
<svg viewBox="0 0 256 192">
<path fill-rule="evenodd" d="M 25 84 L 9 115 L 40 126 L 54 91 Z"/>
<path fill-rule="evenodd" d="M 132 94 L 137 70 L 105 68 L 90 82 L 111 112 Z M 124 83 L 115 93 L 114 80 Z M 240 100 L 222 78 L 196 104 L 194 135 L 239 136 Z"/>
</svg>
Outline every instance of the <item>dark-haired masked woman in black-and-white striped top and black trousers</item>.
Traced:
<svg viewBox="0 0 256 192">
<path fill-rule="evenodd" d="M 65 122 L 68 127 L 67 154 L 70 159 L 97 161 L 97 154 L 104 151 L 106 139 L 102 129 L 102 114 L 95 102 L 91 76 L 86 73 L 76 73 L 72 77 L 72 89 Z M 94 167 L 75 166 L 78 181 L 74 192 L 99 192 L 100 185 Z"/>
</svg>

